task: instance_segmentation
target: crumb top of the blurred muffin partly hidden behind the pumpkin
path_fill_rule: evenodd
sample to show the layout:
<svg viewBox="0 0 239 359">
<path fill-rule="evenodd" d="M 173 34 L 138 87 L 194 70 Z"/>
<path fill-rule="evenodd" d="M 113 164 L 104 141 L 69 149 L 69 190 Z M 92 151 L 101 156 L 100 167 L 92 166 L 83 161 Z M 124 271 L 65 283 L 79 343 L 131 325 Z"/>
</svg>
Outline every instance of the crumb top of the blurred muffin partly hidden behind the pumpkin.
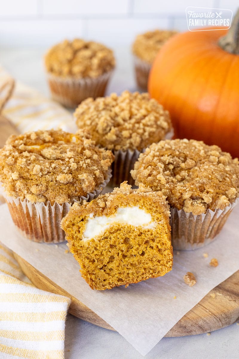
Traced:
<svg viewBox="0 0 239 359">
<path fill-rule="evenodd" d="M 141 60 L 152 64 L 164 43 L 175 34 L 177 34 L 176 31 L 158 29 L 140 34 L 136 37 L 133 43 L 133 54 L 138 56 Z"/>
</svg>

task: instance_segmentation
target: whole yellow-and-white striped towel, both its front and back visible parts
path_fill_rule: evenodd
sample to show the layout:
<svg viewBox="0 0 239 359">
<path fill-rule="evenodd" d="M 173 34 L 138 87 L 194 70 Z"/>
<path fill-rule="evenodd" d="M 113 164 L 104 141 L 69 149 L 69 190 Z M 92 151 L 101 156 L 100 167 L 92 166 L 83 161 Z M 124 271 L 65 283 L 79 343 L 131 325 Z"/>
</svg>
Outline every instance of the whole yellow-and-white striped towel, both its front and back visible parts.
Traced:
<svg viewBox="0 0 239 359">
<path fill-rule="evenodd" d="M 5 89 L 5 98 L 11 81 L 0 67 L 0 90 Z M 1 100 L 3 103 L 0 96 L 0 107 Z M 19 132 L 52 128 L 75 132 L 69 112 L 18 83 L 2 113 Z M 67 297 L 35 288 L 13 253 L 0 243 L 0 359 L 63 359 L 69 304 Z"/>
</svg>

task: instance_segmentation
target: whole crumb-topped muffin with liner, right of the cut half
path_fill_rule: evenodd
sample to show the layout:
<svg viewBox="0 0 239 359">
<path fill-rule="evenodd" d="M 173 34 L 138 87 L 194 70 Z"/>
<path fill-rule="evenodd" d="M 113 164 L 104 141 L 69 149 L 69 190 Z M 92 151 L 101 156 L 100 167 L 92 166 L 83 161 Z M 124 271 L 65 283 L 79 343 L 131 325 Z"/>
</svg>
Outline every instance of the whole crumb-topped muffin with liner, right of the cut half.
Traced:
<svg viewBox="0 0 239 359">
<path fill-rule="evenodd" d="M 175 249 L 211 242 L 237 203 L 238 159 L 202 141 L 154 143 L 139 156 L 131 173 L 137 185 L 144 183 L 167 197 Z"/>
</svg>

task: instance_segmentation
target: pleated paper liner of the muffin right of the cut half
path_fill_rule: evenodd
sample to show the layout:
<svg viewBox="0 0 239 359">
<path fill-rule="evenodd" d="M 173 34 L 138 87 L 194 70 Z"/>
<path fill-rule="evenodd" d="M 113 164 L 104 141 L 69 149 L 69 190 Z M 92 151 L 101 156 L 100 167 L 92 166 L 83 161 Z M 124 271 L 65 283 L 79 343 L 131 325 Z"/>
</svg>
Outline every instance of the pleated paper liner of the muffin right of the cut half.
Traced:
<svg viewBox="0 0 239 359">
<path fill-rule="evenodd" d="M 195 250 L 211 243 L 223 228 L 236 199 L 223 210 L 208 209 L 205 214 L 193 215 L 183 209 L 171 208 L 171 238 L 174 250 Z"/>
</svg>

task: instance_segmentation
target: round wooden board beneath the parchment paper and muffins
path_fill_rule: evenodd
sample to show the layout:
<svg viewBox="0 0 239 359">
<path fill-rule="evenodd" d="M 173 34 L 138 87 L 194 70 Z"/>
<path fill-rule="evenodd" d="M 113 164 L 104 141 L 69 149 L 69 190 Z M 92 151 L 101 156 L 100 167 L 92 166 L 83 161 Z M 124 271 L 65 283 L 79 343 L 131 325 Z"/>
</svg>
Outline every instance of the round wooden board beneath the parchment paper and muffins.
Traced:
<svg viewBox="0 0 239 359">
<path fill-rule="evenodd" d="M 11 134 L 18 134 L 15 126 L 5 117 L 0 116 L 0 148 Z M 72 302 L 69 312 L 74 316 L 97 326 L 114 330 L 97 314 L 83 303 L 72 297 L 64 289 L 49 280 L 23 258 L 15 254 L 21 269 L 40 289 L 66 295 Z M 216 286 L 195 307 L 193 307 L 166 334 L 166 337 L 184 336 L 210 332 L 228 326 L 239 319 L 239 271 Z"/>
</svg>

